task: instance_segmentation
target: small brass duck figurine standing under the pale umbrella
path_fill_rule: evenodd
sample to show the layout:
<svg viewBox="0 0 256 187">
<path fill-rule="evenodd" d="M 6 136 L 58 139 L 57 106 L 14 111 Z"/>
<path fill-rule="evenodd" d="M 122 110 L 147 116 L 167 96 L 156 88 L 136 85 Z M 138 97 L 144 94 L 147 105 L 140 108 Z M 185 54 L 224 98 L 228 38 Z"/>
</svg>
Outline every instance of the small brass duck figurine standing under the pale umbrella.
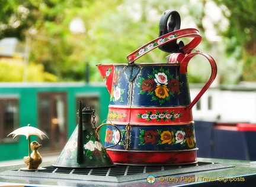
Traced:
<svg viewBox="0 0 256 187">
<path fill-rule="evenodd" d="M 41 145 L 34 141 L 30 143 L 30 147 L 32 149 L 32 153 L 30 156 L 24 156 L 23 160 L 25 165 L 28 166 L 28 169 L 37 169 L 42 162 L 42 157 L 40 153 L 37 151 Z"/>
</svg>

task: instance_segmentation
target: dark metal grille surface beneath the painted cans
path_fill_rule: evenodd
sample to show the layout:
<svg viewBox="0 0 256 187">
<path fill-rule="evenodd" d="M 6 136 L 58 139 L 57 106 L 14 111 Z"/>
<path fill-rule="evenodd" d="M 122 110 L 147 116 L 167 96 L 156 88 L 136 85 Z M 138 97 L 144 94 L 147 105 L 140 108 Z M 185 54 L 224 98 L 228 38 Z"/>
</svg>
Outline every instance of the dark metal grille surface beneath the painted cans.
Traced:
<svg viewBox="0 0 256 187">
<path fill-rule="evenodd" d="M 42 170 L 8 170 L 1 172 L 0 176 L 16 176 L 17 179 L 57 181 L 57 183 L 130 183 L 144 181 L 149 175 L 159 176 L 185 176 L 196 172 L 209 172 L 218 169 L 228 169 L 233 166 L 226 163 L 198 162 L 179 166 L 127 166 L 116 165 L 110 168 L 56 168 L 44 166 Z M 72 186 L 72 185 L 71 185 Z"/>
</svg>

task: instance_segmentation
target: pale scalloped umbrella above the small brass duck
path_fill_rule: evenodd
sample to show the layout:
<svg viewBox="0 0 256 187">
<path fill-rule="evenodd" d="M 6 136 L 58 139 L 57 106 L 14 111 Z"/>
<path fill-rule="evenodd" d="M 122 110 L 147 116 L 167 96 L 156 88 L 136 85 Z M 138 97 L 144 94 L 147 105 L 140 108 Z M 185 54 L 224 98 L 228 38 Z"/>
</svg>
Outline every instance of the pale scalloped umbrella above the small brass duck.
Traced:
<svg viewBox="0 0 256 187">
<path fill-rule="evenodd" d="M 39 136 L 41 140 L 43 140 L 43 136 L 46 136 L 48 139 L 49 137 L 44 134 L 41 130 L 35 128 L 35 127 L 32 127 L 30 126 L 30 124 L 28 124 L 27 126 L 25 127 L 20 127 L 16 130 L 14 130 L 13 132 L 9 133 L 9 135 L 12 135 L 13 139 L 15 139 L 15 137 L 19 136 L 19 135 L 25 135 L 26 138 L 28 139 L 28 156 L 30 156 L 30 136 L 31 135 L 36 135 L 36 136 Z"/>
</svg>

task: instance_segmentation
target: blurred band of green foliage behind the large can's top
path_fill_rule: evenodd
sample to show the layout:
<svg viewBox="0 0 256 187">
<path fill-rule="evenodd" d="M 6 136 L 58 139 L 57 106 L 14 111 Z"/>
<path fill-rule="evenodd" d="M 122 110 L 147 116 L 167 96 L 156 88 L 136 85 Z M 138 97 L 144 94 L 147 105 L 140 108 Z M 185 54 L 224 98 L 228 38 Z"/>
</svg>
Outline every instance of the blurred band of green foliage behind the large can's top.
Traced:
<svg viewBox="0 0 256 187">
<path fill-rule="evenodd" d="M 247 60 L 256 51 L 254 0 L 213 0 L 229 20 L 229 28 L 222 45 L 226 51 L 244 64 L 246 74 L 253 74 L 255 61 Z M 30 62 L 43 65 L 44 71 L 54 74 L 59 81 L 81 81 L 85 64 L 89 64 L 91 81 L 102 81 L 95 64 L 127 63 L 126 56 L 140 46 L 158 37 L 158 24 L 162 12 L 175 9 L 181 14 L 181 28 L 196 27 L 203 37 L 200 51 L 210 49 L 207 42 L 206 4 L 210 1 L 159 0 L 8 0 L 0 1 L 0 39 L 17 37 L 30 39 Z M 71 32 L 71 21 L 79 18 L 85 32 Z M 191 26 L 192 25 L 192 26 Z M 185 43 L 187 40 L 182 39 Z M 29 41 L 29 40 L 27 40 Z M 203 48 L 203 49 L 202 49 Z M 224 52 L 223 52 L 224 53 Z M 137 63 L 165 63 L 164 53 L 158 49 L 137 60 Z M 223 58 L 224 54 L 217 54 Z M 191 63 L 190 63 L 191 64 Z M 219 64 L 224 65 L 225 63 Z M 190 65 L 191 66 L 191 65 Z M 189 67 L 190 68 L 190 67 Z M 197 65 L 196 70 L 201 68 Z M 222 68 L 220 68 L 221 70 Z M 223 68 L 225 69 L 225 68 Z M 248 71 L 251 70 L 251 71 Z M 190 71 L 190 70 L 189 70 Z M 197 71 L 193 71 L 197 72 Z M 219 71 L 220 74 L 222 74 Z M 204 73 L 208 74 L 208 73 Z M 222 75 L 220 75 L 222 76 Z M 226 76 L 226 70 L 223 77 Z M 190 81 L 204 82 L 201 74 L 192 74 Z M 206 75 L 207 77 L 207 75 Z M 243 80 L 247 80 L 244 76 Z M 250 78 L 253 80 L 253 78 Z M 256 78 L 255 78 L 256 80 Z"/>
</svg>

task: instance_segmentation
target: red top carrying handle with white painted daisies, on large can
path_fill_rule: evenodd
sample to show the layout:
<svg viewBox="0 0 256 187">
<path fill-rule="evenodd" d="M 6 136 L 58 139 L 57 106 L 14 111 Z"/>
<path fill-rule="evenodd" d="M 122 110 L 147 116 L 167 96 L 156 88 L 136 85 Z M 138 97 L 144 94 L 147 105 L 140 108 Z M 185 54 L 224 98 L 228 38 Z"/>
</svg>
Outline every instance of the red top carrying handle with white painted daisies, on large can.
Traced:
<svg viewBox="0 0 256 187">
<path fill-rule="evenodd" d="M 142 47 L 138 48 L 136 51 L 133 51 L 133 53 L 127 55 L 127 60 L 129 63 L 133 63 L 135 60 L 142 57 L 146 53 L 149 53 L 149 51 L 152 51 L 156 47 L 159 47 L 168 42 L 171 42 L 171 41 L 177 40 L 178 38 L 183 38 L 183 37 L 193 37 L 193 40 L 191 40 L 187 45 L 181 48 L 184 54 L 187 54 L 190 48 L 195 48 L 201 42 L 201 35 L 199 34 L 199 31 L 197 29 L 195 28 L 179 29 L 177 31 L 169 32 L 168 34 L 162 35 L 161 37 L 156 38 L 151 42 L 148 42 L 148 44 L 143 45 Z"/>
</svg>

